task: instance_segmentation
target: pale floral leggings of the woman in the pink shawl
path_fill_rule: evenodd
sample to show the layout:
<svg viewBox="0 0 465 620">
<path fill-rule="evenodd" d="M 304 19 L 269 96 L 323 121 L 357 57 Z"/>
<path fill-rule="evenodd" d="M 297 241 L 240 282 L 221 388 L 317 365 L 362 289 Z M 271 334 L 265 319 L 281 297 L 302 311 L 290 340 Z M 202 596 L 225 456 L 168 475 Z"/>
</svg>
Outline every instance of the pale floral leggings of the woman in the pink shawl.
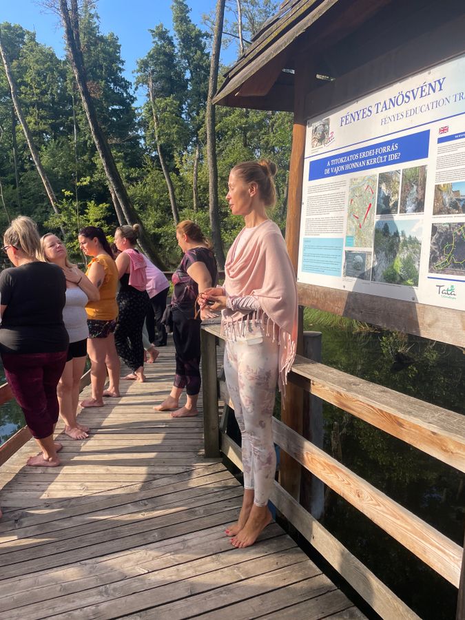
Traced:
<svg viewBox="0 0 465 620">
<path fill-rule="evenodd" d="M 254 504 L 266 506 L 276 471 L 271 420 L 278 381 L 278 342 L 259 327 L 247 338 L 227 340 L 225 375 L 242 435 L 244 487 L 255 490 Z"/>
</svg>

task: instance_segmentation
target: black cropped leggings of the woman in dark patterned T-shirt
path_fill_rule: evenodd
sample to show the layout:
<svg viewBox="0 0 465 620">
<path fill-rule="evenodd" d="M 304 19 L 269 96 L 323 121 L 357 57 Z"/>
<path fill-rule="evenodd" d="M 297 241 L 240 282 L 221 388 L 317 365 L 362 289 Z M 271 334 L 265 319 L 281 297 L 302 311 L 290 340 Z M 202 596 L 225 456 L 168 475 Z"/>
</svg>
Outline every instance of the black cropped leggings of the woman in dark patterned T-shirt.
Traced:
<svg viewBox="0 0 465 620">
<path fill-rule="evenodd" d="M 173 340 L 176 347 L 174 387 L 185 388 L 189 396 L 200 392 L 200 320 L 186 318 L 173 308 Z"/>
</svg>

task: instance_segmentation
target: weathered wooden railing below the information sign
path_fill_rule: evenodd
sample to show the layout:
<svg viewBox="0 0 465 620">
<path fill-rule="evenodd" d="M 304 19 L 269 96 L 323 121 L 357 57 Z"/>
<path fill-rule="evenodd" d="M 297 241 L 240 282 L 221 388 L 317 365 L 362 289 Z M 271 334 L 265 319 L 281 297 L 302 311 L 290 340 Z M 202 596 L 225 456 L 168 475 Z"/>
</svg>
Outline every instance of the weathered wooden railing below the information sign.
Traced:
<svg viewBox="0 0 465 620">
<path fill-rule="evenodd" d="M 226 435 L 225 428 L 220 428 L 219 423 L 216 360 L 219 338 L 218 325 L 203 327 L 205 456 L 218 457 L 222 452 L 242 469 L 240 447 Z M 296 357 L 288 381 L 465 472 L 464 416 L 300 355 Z M 227 393 L 223 392 L 222 396 L 225 402 L 229 400 Z M 464 620 L 464 548 L 275 418 L 273 439 L 305 469 L 459 588 L 457 620 Z M 417 618 L 413 610 L 277 482 L 274 483 L 271 502 L 382 618 Z"/>
</svg>

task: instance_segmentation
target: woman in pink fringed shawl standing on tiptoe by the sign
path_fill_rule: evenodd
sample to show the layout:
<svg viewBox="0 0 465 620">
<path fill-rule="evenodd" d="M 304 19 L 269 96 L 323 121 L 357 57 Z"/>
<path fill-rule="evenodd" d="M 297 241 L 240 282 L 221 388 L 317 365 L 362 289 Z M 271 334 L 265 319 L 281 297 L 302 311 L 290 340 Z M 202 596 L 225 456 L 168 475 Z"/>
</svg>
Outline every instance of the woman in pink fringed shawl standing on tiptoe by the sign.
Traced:
<svg viewBox="0 0 465 620">
<path fill-rule="evenodd" d="M 244 499 L 238 521 L 226 530 L 238 548 L 254 544 L 271 521 L 276 385 L 283 389 L 296 355 L 296 277 L 280 229 L 267 216 L 276 200 L 275 175 L 271 161 L 231 170 L 226 199 L 245 227 L 229 249 L 224 287 L 204 291 L 201 303 L 204 316 L 223 311 L 225 375 L 242 435 Z"/>
</svg>

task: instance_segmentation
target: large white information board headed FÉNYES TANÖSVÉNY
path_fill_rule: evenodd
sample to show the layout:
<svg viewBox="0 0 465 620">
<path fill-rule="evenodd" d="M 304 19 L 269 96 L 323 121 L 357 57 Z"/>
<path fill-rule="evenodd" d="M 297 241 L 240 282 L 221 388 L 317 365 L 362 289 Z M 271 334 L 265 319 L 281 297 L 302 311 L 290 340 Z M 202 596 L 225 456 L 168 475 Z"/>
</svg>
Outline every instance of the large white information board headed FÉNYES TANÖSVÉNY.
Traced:
<svg viewBox="0 0 465 620">
<path fill-rule="evenodd" d="M 465 56 L 307 121 L 298 281 L 465 309 Z"/>
</svg>

